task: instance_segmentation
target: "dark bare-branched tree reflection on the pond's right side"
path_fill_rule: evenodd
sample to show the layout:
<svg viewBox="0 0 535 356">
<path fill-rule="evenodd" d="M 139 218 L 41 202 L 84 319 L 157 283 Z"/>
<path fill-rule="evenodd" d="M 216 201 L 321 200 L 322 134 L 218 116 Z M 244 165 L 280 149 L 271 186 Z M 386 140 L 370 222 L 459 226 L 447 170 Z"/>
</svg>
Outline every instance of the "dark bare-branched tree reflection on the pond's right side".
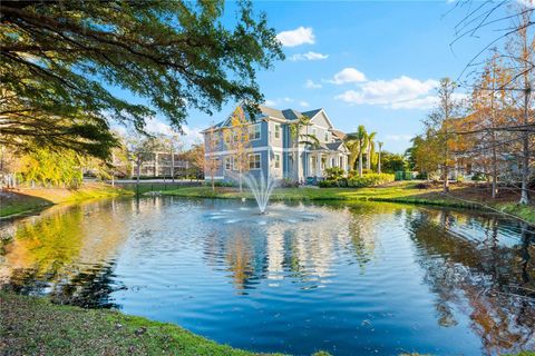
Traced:
<svg viewBox="0 0 535 356">
<path fill-rule="evenodd" d="M 449 211 L 427 211 L 406 220 L 418 247 L 425 280 L 437 294 L 438 323 L 455 325 L 453 307 L 468 308 L 471 328 L 487 354 L 535 347 L 533 234 L 522 227 L 513 248 L 500 243 L 496 217 L 480 218 L 485 240 L 451 234 L 459 221 Z M 517 288 L 519 286 L 522 288 Z"/>
</svg>

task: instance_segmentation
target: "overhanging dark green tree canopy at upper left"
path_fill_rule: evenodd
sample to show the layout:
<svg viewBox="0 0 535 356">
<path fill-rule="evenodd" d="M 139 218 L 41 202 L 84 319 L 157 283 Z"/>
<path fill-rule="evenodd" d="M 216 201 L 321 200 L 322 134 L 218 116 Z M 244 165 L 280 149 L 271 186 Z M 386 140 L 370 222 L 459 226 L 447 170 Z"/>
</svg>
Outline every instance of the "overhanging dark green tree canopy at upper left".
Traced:
<svg viewBox="0 0 535 356">
<path fill-rule="evenodd" d="M 0 144 L 106 157 L 111 120 L 143 131 L 159 111 L 179 131 L 188 108 L 261 102 L 256 71 L 284 58 L 281 44 L 251 2 L 232 26 L 223 11 L 222 0 L 2 1 Z"/>
</svg>

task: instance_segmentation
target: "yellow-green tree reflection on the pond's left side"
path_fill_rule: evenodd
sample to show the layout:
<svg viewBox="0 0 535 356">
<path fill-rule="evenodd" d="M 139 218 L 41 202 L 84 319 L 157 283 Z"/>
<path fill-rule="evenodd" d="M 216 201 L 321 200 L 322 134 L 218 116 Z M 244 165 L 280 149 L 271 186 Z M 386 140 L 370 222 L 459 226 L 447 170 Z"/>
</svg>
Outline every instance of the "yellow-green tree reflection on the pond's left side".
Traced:
<svg viewBox="0 0 535 356">
<path fill-rule="evenodd" d="M 114 264 L 107 261 L 126 238 L 121 207 L 114 200 L 60 206 L 13 224 L 1 284 L 60 304 L 116 307 L 109 301 Z"/>
</svg>

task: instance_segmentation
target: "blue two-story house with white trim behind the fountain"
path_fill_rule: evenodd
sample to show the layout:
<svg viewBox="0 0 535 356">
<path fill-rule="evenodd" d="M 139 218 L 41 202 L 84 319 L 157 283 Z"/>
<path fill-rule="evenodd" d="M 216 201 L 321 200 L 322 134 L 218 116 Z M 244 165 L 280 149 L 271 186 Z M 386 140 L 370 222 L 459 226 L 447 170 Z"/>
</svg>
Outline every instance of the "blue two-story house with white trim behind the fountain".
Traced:
<svg viewBox="0 0 535 356">
<path fill-rule="evenodd" d="M 259 106 L 260 113 L 251 120 L 249 129 L 249 174 L 270 175 L 275 179 L 294 179 L 305 182 L 322 179 L 325 169 L 341 167 L 348 170 L 349 150 L 343 144 L 343 134 L 334 129 L 325 110 L 317 109 L 299 112 L 293 109 L 278 110 Z M 292 125 L 305 116 L 310 123 L 301 126 L 298 135 L 292 135 Z M 215 174 L 205 171 L 205 178 L 233 180 L 236 167 L 233 162 L 232 145 L 225 142 L 225 130 L 231 128 L 231 117 L 207 128 L 202 134 L 205 141 L 206 159 L 217 160 Z M 313 136 L 318 142 L 308 145 L 307 137 Z"/>
</svg>

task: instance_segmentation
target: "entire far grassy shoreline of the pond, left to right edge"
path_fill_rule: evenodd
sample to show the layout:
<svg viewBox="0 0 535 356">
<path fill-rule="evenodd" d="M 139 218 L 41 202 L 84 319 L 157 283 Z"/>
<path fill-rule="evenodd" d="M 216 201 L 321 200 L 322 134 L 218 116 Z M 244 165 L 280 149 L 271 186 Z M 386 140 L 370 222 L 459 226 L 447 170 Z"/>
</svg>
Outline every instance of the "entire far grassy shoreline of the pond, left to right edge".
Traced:
<svg viewBox="0 0 535 356">
<path fill-rule="evenodd" d="M 135 186 L 133 186 L 135 187 Z M 158 186 L 156 186 L 158 188 Z M 139 185 L 139 192 L 153 190 L 153 184 Z M 468 191 L 465 191 L 468 190 Z M 471 188 L 474 190 L 474 188 Z M 107 184 L 85 184 L 80 189 L 37 188 L 2 192 L 0 219 L 12 218 L 25 214 L 39 212 L 50 206 L 76 202 L 97 198 L 133 196 L 135 189 L 113 187 Z M 208 186 L 181 187 L 172 190 L 158 190 L 164 196 L 208 199 L 254 199 L 250 192 L 240 192 L 236 188 Z M 385 201 L 412 205 L 428 205 L 450 208 L 481 209 L 489 212 L 504 214 L 510 218 L 521 219 L 535 225 L 535 206 L 521 206 L 514 197 L 506 196 L 493 201 L 480 192 L 474 194 L 466 186 L 451 187 L 451 192 L 445 195 L 439 187 L 419 188 L 417 182 L 402 181 L 370 188 L 278 188 L 271 196 L 273 201 Z"/>
</svg>

